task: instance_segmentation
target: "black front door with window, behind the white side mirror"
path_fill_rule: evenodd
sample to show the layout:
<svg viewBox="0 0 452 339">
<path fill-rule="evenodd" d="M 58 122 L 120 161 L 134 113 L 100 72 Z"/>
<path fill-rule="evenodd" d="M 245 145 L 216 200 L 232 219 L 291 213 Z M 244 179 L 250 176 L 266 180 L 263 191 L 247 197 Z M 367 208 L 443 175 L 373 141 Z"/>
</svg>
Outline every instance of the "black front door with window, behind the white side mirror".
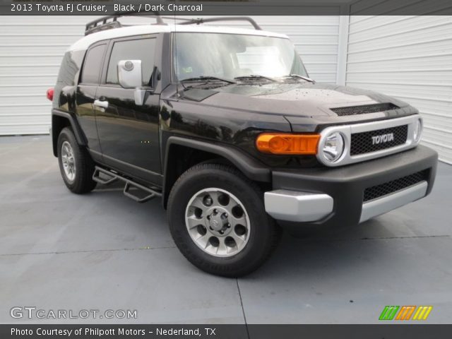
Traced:
<svg viewBox="0 0 452 339">
<path fill-rule="evenodd" d="M 159 95 L 150 88 L 155 67 L 156 35 L 127 37 L 109 44 L 96 93 L 97 133 L 106 165 L 160 186 Z M 133 89 L 119 85 L 120 60 L 141 60 L 144 105 L 135 104 Z"/>
</svg>

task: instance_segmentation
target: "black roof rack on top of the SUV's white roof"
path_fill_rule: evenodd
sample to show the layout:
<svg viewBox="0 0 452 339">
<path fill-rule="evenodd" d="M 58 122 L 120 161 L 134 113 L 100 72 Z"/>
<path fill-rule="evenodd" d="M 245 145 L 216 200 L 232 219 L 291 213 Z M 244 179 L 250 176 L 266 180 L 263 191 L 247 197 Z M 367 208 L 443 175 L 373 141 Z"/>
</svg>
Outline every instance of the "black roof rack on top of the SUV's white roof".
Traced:
<svg viewBox="0 0 452 339">
<path fill-rule="evenodd" d="M 141 12 L 143 13 L 143 12 Z M 112 16 L 102 16 L 102 18 L 98 18 L 96 20 L 87 23 L 85 26 L 85 35 L 100 32 L 102 30 L 110 30 L 113 28 L 121 28 L 127 27 L 130 25 L 124 25 L 118 21 L 118 18 L 124 18 L 126 16 L 140 16 L 143 18 L 155 18 L 155 24 L 157 25 L 166 25 L 163 22 L 163 18 L 171 19 L 171 20 L 182 20 L 182 23 L 179 25 L 201 25 L 201 23 L 212 23 L 215 21 L 247 21 L 253 25 L 256 30 L 262 30 L 261 26 L 259 26 L 256 21 L 254 21 L 249 16 L 218 16 L 216 18 L 197 18 L 197 19 L 188 19 L 188 18 L 177 18 L 172 16 L 160 16 L 156 11 L 150 11 L 150 13 L 154 13 L 154 16 L 142 16 L 141 13 L 138 12 L 117 12 Z"/>
</svg>

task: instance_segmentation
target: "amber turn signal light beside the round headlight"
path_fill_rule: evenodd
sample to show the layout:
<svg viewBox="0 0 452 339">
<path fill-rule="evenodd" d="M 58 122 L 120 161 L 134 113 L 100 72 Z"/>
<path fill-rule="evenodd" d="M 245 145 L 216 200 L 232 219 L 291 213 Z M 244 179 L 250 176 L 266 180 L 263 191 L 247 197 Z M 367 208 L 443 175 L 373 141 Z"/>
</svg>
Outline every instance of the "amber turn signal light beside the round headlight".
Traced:
<svg viewBox="0 0 452 339">
<path fill-rule="evenodd" d="M 319 134 L 262 133 L 256 148 L 270 154 L 316 155 L 319 139 Z"/>
</svg>

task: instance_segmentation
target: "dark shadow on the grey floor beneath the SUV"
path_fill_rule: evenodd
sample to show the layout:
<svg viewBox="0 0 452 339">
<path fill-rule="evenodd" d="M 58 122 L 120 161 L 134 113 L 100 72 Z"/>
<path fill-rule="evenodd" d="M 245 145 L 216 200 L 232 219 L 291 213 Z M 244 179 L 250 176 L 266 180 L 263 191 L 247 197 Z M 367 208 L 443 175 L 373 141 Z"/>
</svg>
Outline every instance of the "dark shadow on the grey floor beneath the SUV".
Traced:
<svg viewBox="0 0 452 339">
<path fill-rule="evenodd" d="M 124 218 L 124 223 L 126 222 L 124 211 L 126 215 L 138 214 L 134 217 L 135 222 L 128 222 L 126 227 L 133 227 L 136 232 L 146 234 L 146 237 L 149 238 L 143 239 L 143 243 L 151 243 L 152 237 L 158 233 L 159 237 L 163 234 L 166 241 L 175 247 L 169 234 L 166 211 L 162 208 L 160 199 L 138 204 L 122 196 L 121 190 L 121 184 L 100 185 L 93 191 L 93 196 L 95 195 L 96 199 L 102 197 L 109 200 L 109 208 L 112 213 L 118 213 L 117 218 Z M 282 271 L 287 270 L 293 273 L 303 267 L 318 268 L 324 266 L 326 261 L 333 266 L 345 266 L 350 263 L 350 258 L 359 260 L 366 256 L 378 257 L 378 244 L 374 242 L 369 249 L 362 243 L 372 241 L 372 239 L 397 237 L 398 232 L 391 231 L 391 227 L 388 227 L 391 219 L 375 218 L 361 225 L 340 227 L 338 230 L 314 230 L 303 237 L 292 237 L 284 232 L 278 248 L 268 263 L 250 277 L 256 275 L 264 278 L 266 275 L 283 274 Z M 135 231 L 129 230 L 129 232 Z M 187 262 L 187 265 L 190 264 Z M 193 269 L 196 270 L 196 268 Z M 275 270 L 278 273 L 275 273 Z M 287 274 L 283 274 L 283 276 L 287 278 Z"/>
</svg>

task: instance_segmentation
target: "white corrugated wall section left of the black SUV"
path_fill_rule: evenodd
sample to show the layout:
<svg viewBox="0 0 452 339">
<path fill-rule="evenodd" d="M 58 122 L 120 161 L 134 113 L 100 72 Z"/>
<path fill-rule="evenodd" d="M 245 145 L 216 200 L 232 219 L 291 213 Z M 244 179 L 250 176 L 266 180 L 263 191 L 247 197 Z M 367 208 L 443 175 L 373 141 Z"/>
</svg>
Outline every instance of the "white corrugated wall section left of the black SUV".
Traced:
<svg viewBox="0 0 452 339">
<path fill-rule="evenodd" d="M 66 48 L 90 17 L 3 16 L 0 20 L 0 135 L 49 133 L 53 87 Z"/>
</svg>

